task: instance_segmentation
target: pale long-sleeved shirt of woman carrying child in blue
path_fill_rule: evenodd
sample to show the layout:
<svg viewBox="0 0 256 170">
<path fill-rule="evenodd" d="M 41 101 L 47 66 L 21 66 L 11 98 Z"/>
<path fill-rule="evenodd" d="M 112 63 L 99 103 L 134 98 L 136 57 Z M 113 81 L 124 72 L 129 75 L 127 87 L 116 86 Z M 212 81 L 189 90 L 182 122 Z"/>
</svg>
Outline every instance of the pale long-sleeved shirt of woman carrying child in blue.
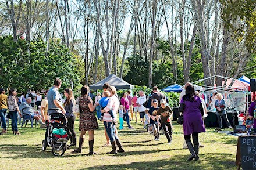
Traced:
<svg viewBox="0 0 256 170">
<path fill-rule="evenodd" d="M 105 113 L 103 116 L 103 121 L 105 121 L 105 122 L 113 121 L 111 115 L 108 113 L 109 110 L 112 110 L 113 115 L 115 116 L 115 119 L 116 119 L 117 118 L 116 113 L 118 113 L 118 109 L 119 109 L 118 97 L 116 97 L 116 95 L 109 97 L 108 105 L 106 105 L 106 107 L 104 108 Z"/>
</svg>

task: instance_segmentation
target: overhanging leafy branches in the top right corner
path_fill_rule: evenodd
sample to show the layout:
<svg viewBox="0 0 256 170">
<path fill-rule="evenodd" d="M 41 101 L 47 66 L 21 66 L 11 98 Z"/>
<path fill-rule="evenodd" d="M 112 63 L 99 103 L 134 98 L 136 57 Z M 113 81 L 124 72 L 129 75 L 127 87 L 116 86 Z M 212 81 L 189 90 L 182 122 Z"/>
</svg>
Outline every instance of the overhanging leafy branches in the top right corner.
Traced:
<svg viewBox="0 0 256 170">
<path fill-rule="evenodd" d="M 234 37 L 245 41 L 247 49 L 256 50 L 256 1 L 221 0 L 222 18 L 225 27 L 233 31 Z M 239 21 L 239 22 L 237 22 Z"/>
</svg>

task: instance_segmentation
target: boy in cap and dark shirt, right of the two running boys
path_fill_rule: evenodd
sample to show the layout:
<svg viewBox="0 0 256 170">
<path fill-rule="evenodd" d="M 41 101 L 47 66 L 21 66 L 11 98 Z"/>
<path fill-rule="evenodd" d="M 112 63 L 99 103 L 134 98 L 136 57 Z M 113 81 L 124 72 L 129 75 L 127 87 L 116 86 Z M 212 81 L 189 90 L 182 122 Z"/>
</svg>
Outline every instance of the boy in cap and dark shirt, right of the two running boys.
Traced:
<svg viewBox="0 0 256 170">
<path fill-rule="evenodd" d="M 162 126 L 165 136 L 168 140 L 168 144 L 172 143 L 172 114 L 173 111 L 169 106 L 166 106 L 166 100 L 160 100 L 161 107 L 157 110 L 157 122 L 159 126 Z M 159 122 L 159 116 L 161 123 Z"/>
</svg>

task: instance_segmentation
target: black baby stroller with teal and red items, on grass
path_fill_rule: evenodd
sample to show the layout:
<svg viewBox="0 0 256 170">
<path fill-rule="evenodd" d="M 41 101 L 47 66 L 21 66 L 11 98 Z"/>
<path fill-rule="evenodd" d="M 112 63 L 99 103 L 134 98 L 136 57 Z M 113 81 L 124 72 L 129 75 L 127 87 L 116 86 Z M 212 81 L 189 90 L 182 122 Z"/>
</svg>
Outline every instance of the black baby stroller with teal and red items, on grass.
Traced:
<svg viewBox="0 0 256 170">
<path fill-rule="evenodd" d="M 67 150 L 67 120 L 66 116 L 61 113 L 52 113 L 49 115 L 49 128 L 47 141 L 42 140 L 42 151 L 45 151 L 47 146 L 52 147 L 52 154 L 62 156 Z"/>
</svg>

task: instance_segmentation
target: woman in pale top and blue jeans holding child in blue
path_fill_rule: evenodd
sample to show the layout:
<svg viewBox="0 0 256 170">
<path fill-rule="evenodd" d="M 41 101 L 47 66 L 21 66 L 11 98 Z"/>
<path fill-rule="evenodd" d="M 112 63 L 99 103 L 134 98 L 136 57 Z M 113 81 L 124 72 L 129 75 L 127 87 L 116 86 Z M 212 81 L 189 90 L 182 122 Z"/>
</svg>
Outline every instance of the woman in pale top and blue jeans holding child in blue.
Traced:
<svg viewBox="0 0 256 170">
<path fill-rule="evenodd" d="M 116 113 L 118 112 L 119 108 L 119 100 L 118 97 L 116 97 L 116 88 L 114 86 L 110 86 L 108 88 L 108 91 L 111 93 L 108 105 L 101 110 L 101 113 L 104 113 L 103 117 L 103 123 L 106 129 L 106 133 L 108 133 L 108 137 L 111 141 L 112 151 L 110 151 L 108 154 L 117 154 L 117 153 L 123 153 L 125 150 L 123 150 L 123 146 L 118 138 L 118 135 L 115 133 L 115 123 L 113 122 L 113 119 L 111 115 L 108 113 L 109 110 L 113 111 L 113 114 L 116 117 Z M 119 147 L 119 150 L 116 150 L 116 145 Z"/>
</svg>

